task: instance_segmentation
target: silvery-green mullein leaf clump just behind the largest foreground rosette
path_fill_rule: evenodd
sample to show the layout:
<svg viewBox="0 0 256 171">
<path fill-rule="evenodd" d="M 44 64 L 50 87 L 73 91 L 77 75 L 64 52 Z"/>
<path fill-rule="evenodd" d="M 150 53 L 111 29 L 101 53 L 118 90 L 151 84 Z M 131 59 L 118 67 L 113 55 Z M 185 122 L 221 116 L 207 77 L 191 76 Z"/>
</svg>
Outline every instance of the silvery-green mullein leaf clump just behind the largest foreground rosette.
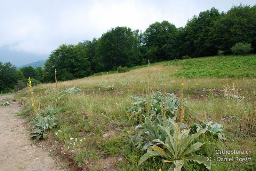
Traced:
<svg viewBox="0 0 256 171">
<path fill-rule="evenodd" d="M 128 108 L 128 113 L 131 114 L 130 119 L 138 121 L 142 114 L 146 114 L 146 98 L 131 96 L 132 99 L 136 100 L 132 103 L 132 106 Z M 180 99 L 177 98 L 173 93 L 167 93 L 166 98 L 161 92 L 156 92 L 148 96 L 148 110 L 151 114 L 160 114 L 165 112 L 166 115 L 173 115 L 179 107 Z M 166 104 L 166 105 L 165 105 Z"/>
</svg>

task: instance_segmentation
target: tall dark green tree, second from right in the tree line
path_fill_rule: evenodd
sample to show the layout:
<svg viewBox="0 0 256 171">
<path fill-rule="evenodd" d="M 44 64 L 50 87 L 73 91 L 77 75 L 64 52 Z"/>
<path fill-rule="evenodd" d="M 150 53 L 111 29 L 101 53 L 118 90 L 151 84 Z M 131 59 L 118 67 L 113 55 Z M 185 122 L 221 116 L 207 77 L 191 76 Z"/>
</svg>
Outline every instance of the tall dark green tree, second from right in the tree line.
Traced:
<svg viewBox="0 0 256 171">
<path fill-rule="evenodd" d="M 184 48 L 185 54 L 198 56 L 213 56 L 217 52 L 216 37 L 212 34 L 215 29 L 215 22 L 220 19 L 220 12 L 212 7 L 211 10 L 200 12 L 188 20 L 184 27 Z"/>
</svg>

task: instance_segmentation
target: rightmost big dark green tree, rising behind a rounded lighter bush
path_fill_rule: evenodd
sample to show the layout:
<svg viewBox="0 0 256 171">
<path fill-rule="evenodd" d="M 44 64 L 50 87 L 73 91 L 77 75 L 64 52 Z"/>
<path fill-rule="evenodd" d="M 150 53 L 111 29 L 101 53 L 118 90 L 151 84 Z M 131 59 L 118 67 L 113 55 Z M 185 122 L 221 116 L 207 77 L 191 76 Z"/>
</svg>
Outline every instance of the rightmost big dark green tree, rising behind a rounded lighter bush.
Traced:
<svg viewBox="0 0 256 171">
<path fill-rule="evenodd" d="M 212 35 L 215 46 L 224 50 L 225 54 L 231 53 L 230 48 L 236 42 L 252 43 L 252 47 L 255 49 L 255 28 L 256 5 L 234 5 L 227 13 L 222 13 L 220 19 L 214 23 Z"/>
</svg>

